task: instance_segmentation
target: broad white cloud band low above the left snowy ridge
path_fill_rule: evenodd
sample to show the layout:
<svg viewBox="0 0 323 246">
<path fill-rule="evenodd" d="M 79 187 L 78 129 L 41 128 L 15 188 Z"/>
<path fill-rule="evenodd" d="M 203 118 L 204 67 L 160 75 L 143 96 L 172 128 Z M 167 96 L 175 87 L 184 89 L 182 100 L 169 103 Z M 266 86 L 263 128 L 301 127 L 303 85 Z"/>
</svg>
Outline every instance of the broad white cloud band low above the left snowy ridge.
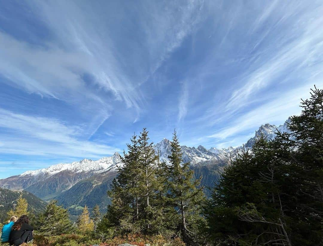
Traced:
<svg viewBox="0 0 323 246">
<path fill-rule="evenodd" d="M 80 126 L 57 119 L 27 116 L 0 109 L 0 152 L 19 155 L 49 155 L 99 158 L 120 151 L 115 147 L 82 140 Z"/>
</svg>

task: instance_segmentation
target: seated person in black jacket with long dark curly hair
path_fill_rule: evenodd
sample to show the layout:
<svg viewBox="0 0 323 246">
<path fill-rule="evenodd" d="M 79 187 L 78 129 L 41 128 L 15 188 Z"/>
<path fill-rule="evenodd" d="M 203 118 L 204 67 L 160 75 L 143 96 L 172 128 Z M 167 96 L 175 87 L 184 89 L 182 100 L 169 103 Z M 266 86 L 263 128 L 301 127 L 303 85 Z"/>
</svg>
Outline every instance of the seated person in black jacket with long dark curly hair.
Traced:
<svg viewBox="0 0 323 246">
<path fill-rule="evenodd" d="M 17 221 L 11 228 L 9 235 L 9 244 L 19 246 L 24 242 L 32 242 L 33 230 L 34 228 L 29 225 L 29 218 L 27 217 L 27 215 L 20 216 L 20 218 L 17 219 Z"/>
</svg>

